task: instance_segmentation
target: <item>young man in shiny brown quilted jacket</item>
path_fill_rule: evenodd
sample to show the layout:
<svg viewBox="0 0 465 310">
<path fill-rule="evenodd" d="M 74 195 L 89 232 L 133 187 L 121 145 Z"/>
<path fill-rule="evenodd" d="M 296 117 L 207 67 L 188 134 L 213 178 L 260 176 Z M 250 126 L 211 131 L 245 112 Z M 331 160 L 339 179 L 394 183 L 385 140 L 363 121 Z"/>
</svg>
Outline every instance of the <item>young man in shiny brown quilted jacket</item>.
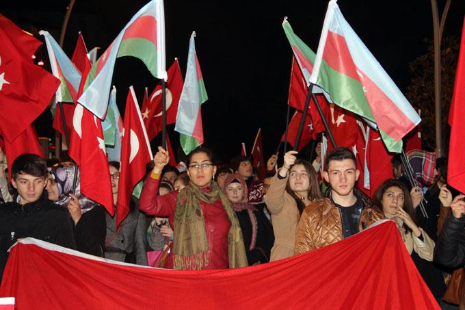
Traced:
<svg viewBox="0 0 465 310">
<path fill-rule="evenodd" d="M 384 216 L 371 198 L 355 187 L 360 172 L 349 148 L 335 148 L 326 156 L 323 179 L 330 184 L 326 198 L 310 203 L 297 225 L 294 253 L 333 244 L 369 227 Z"/>
</svg>

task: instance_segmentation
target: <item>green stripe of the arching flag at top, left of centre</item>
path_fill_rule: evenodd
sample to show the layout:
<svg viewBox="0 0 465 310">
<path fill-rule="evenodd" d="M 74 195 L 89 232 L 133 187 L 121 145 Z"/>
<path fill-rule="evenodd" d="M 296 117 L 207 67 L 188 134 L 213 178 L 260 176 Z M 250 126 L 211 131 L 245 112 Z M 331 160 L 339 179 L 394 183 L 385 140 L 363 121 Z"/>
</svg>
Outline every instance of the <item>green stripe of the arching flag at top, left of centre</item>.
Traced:
<svg viewBox="0 0 465 310">
<path fill-rule="evenodd" d="M 144 38 L 127 38 L 122 40 L 116 57 L 133 56 L 142 60 L 154 77 L 157 76 L 157 49 Z"/>
</svg>

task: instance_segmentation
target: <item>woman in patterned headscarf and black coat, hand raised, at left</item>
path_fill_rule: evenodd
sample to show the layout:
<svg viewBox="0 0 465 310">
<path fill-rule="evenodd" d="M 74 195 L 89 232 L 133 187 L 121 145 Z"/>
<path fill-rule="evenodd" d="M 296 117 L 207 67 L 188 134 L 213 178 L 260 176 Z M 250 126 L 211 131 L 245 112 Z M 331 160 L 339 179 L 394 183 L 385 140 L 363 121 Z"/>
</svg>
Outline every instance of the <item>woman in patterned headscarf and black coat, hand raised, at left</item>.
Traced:
<svg viewBox="0 0 465 310">
<path fill-rule="evenodd" d="M 72 183 L 76 177 L 76 186 Z M 75 165 L 55 166 L 47 177 L 47 194 L 49 200 L 66 207 L 75 224 L 74 233 L 77 250 L 103 257 L 105 244 L 105 209 L 87 198 L 80 191 L 79 169 Z"/>
</svg>

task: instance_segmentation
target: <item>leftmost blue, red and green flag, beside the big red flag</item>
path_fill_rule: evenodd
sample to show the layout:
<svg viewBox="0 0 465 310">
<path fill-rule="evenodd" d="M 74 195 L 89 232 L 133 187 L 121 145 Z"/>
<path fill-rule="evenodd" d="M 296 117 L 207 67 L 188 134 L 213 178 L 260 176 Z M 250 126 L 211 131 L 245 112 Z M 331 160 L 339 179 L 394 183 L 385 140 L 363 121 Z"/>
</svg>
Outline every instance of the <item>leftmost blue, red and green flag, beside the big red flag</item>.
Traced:
<svg viewBox="0 0 465 310">
<path fill-rule="evenodd" d="M 61 81 L 55 95 L 55 103 L 76 102 L 79 83 L 81 83 L 81 73 L 48 31 L 41 30 L 39 34 L 45 38 L 52 73 Z"/>
</svg>

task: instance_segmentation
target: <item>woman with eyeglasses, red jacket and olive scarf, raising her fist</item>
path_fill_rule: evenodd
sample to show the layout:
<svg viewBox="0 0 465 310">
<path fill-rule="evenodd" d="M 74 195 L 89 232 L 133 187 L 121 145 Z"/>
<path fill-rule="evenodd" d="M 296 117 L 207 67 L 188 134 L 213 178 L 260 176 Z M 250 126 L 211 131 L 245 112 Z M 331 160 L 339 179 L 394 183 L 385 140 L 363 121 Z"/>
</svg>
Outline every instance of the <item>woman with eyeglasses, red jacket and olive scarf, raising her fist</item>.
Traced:
<svg viewBox="0 0 465 310">
<path fill-rule="evenodd" d="M 159 146 L 139 207 L 148 215 L 168 217 L 174 229 L 174 269 L 247 266 L 241 227 L 233 205 L 213 181 L 216 166 L 211 151 L 202 147 L 192 151 L 187 158 L 189 184 L 179 192 L 159 196 L 161 171 L 169 160 L 168 152 Z"/>
</svg>

